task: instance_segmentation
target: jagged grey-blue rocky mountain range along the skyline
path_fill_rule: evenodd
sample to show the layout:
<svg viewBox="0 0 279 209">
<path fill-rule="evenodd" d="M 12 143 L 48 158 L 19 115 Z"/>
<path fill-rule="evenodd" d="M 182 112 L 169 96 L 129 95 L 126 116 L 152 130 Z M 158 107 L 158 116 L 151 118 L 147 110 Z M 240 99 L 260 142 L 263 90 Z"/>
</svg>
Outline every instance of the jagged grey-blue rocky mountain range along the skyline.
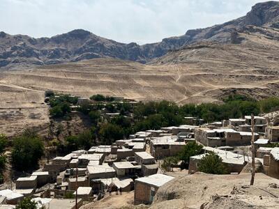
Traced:
<svg viewBox="0 0 279 209">
<path fill-rule="evenodd" d="M 183 36 L 165 38 L 162 42 L 137 45 L 123 44 L 77 29 L 52 38 L 31 38 L 0 32 L 0 68 L 24 65 L 48 65 L 95 58 L 118 58 L 146 63 L 163 56 L 169 50 L 179 49 L 196 42 L 216 41 L 229 43 L 236 31 L 243 27 L 264 26 L 279 28 L 279 2 L 257 3 L 239 19 L 208 27 L 189 30 Z"/>
</svg>

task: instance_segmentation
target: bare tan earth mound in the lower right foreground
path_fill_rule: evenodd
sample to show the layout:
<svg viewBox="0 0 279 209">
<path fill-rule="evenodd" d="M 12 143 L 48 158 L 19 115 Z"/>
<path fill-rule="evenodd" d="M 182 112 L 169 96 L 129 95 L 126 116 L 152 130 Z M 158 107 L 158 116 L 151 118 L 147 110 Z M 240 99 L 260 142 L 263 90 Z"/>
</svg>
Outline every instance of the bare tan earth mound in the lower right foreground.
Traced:
<svg viewBox="0 0 279 209">
<path fill-rule="evenodd" d="M 157 208 L 279 208 L 278 180 L 257 173 L 240 175 L 194 175 L 175 178 L 158 189 L 151 209 Z"/>
</svg>

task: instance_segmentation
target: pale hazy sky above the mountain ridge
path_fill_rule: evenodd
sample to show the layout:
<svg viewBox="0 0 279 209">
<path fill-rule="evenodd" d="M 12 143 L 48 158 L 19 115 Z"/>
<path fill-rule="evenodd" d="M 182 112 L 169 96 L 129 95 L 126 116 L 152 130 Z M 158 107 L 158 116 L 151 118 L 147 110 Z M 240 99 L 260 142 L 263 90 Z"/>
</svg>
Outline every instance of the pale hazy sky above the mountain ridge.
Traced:
<svg viewBox="0 0 279 209">
<path fill-rule="evenodd" d="M 0 0 L 0 31 L 34 38 L 84 29 L 139 44 L 246 15 L 259 0 Z"/>
</svg>

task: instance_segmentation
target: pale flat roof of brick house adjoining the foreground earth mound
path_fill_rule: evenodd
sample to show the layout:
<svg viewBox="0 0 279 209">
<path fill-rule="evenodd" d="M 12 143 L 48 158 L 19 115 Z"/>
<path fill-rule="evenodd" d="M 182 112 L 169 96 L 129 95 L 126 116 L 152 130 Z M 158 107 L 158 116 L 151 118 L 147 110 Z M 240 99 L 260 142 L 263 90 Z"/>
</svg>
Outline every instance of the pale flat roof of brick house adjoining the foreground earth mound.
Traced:
<svg viewBox="0 0 279 209">
<path fill-rule="evenodd" d="M 169 180 L 172 180 L 172 179 L 174 179 L 174 177 L 167 176 L 167 175 L 164 175 L 161 173 L 156 173 L 151 176 L 137 178 L 135 181 L 153 185 L 155 187 L 161 187 L 161 186 L 165 185 L 165 183 L 169 182 Z"/>
</svg>

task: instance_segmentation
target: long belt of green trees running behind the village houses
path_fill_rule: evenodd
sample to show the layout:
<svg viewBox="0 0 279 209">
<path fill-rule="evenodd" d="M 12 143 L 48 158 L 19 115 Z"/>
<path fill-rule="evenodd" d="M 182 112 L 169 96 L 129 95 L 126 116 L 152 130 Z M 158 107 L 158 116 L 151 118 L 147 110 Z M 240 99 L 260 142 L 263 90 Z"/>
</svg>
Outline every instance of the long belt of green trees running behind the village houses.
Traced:
<svg viewBox="0 0 279 209">
<path fill-rule="evenodd" d="M 51 92 L 47 94 L 50 95 L 52 107 L 50 114 L 54 117 L 65 116 L 70 111 L 70 104 L 77 103 L 77 98 L 70 95 L 55 97 Z M 205 103 L 183 106 L 168 101 L 139 102 L 131 105 L 128 102 L 116 102 L 114 98 L 100 94 L 92 95 L 91 100 L 100 102 L 84 101 L 80 104 L 79 111 L 89 116 L 93 132 L 87 131 L 91 133 L 91 136 L 86 142 L 82 142 L 80 136 L 68 137 L 66 150 L 83 148 L 86 143 L 91 146 L 96 141 L 110 145 L 138 131 L 158 130 L 160 127 L 185 124 L 185 116 L 202 118 L 210 123 L 279 109 L 279 98 L 256 101 L 246 95 L 236 93 L 224 98 L 223 104 Z M 119 113 L 119 116 L 104 117 L 104 113 Z"/>
</svg>

